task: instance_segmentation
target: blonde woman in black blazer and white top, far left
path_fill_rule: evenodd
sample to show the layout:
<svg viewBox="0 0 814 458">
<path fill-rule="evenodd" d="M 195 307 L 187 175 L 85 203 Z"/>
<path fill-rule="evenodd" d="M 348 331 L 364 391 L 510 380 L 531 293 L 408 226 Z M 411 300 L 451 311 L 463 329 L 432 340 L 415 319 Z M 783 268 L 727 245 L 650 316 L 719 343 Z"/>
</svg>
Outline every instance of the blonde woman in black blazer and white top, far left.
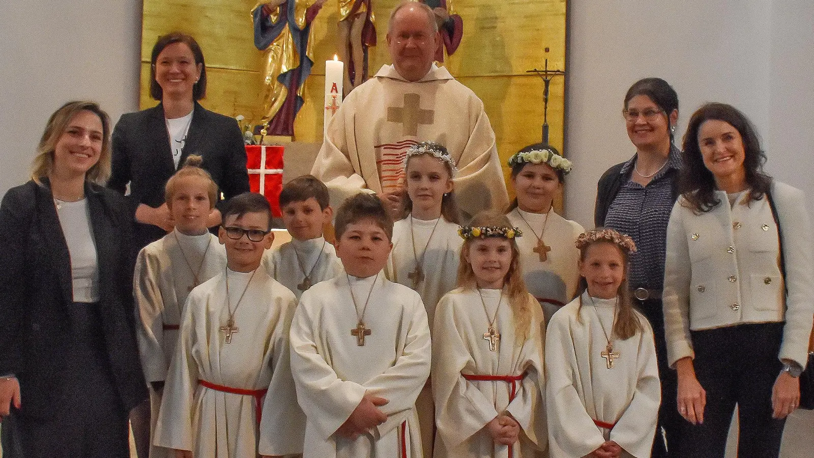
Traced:
<svg viewBox="0 0 814 458">
<path fill-rule="evenodd" d="M 48 121 L 32 180 L 0 205 L 0 416 L 24 456 L 129 456 L 147 396 L 133 326 L 132 215 L 104 183 L 110 121 L 71 102 Z"/>
</svg>

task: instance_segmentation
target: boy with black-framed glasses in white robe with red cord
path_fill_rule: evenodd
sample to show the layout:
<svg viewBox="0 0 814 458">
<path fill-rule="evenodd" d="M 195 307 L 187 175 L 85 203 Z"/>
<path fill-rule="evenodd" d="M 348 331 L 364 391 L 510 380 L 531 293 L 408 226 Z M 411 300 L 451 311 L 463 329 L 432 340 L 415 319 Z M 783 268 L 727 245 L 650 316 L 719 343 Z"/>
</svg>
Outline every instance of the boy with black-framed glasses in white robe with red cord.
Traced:
<svg viewBox="0 0 814 458">
<path fill-rule="evenodd" d="M 287 338 L 296 300 L 260 262 L 274 240 L 269 203 L 235 196 L 223 221 L 228 266 L 186 301 L 155 443 L 196 458 L 299 453 Z"/>
</svg>

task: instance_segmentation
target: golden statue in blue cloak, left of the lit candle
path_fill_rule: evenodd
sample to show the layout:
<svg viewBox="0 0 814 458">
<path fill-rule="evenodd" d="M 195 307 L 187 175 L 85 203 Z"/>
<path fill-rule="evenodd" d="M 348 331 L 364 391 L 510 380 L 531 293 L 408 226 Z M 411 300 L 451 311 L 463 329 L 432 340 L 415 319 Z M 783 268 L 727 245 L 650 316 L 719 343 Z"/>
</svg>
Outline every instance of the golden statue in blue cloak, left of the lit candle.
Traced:
<svg viewBox="0 0 814 458">
<path fill-rule="evenodd" d="M 252 8 L 255 46 L 265 51 L 263 112 L 269 135 L 294 136 L 294 117 L 313 67 L 311 24 L 325 0 L 272 0 Z"/>
</svg>

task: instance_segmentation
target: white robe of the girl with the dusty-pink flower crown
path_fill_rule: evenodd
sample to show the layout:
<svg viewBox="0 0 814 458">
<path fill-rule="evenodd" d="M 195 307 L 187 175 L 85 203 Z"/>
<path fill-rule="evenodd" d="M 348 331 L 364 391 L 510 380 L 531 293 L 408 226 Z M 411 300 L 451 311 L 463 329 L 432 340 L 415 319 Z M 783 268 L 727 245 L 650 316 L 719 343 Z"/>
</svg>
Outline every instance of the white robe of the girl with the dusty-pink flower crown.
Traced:
<svg viewBox="0 0 814 458">
<path fill-rule="evenodd" d="M 582 298 L 581 310 L 578 297 L 555 313 L 546 329 L 550 456 L 585 456 L 614 441 L 623 449 L 621 456 L 647 458 L 661 403 L 653 330 L 634 310 L 644 332 L 613 341 L 611 353 L 618 357 L 608 368 L 602 326 L 613 329 L 616 299 L 593 297 L 592 302 L 587 292 Z"/>
</svg>

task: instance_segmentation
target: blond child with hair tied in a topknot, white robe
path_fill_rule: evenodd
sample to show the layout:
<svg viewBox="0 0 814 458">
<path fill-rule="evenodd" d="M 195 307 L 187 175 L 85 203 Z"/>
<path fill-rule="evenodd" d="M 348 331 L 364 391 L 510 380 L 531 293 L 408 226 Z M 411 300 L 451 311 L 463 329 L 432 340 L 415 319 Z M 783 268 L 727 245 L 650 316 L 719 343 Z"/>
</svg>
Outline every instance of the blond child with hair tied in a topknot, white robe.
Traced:
<svg viewBox="0 0 814 458">
<path fill-rule="evenodd" d="M 175 354 L 186 296 L 226 266 L 225 249 L 207 230 L 207 218 L 217 200 L 217 185 L 199 164 L 200 156 L 189 156 L 184 167 L 169 178 L 165 201 L 175 229 L 138 253 L 133 275 L 139 324 L 136 337 L 144 376 L 151 387 L 152 432 L 158 421 L 169 362 Z M 168 456 L 168 450 L 151 445 L 150 456 Z"/>
</svg>

